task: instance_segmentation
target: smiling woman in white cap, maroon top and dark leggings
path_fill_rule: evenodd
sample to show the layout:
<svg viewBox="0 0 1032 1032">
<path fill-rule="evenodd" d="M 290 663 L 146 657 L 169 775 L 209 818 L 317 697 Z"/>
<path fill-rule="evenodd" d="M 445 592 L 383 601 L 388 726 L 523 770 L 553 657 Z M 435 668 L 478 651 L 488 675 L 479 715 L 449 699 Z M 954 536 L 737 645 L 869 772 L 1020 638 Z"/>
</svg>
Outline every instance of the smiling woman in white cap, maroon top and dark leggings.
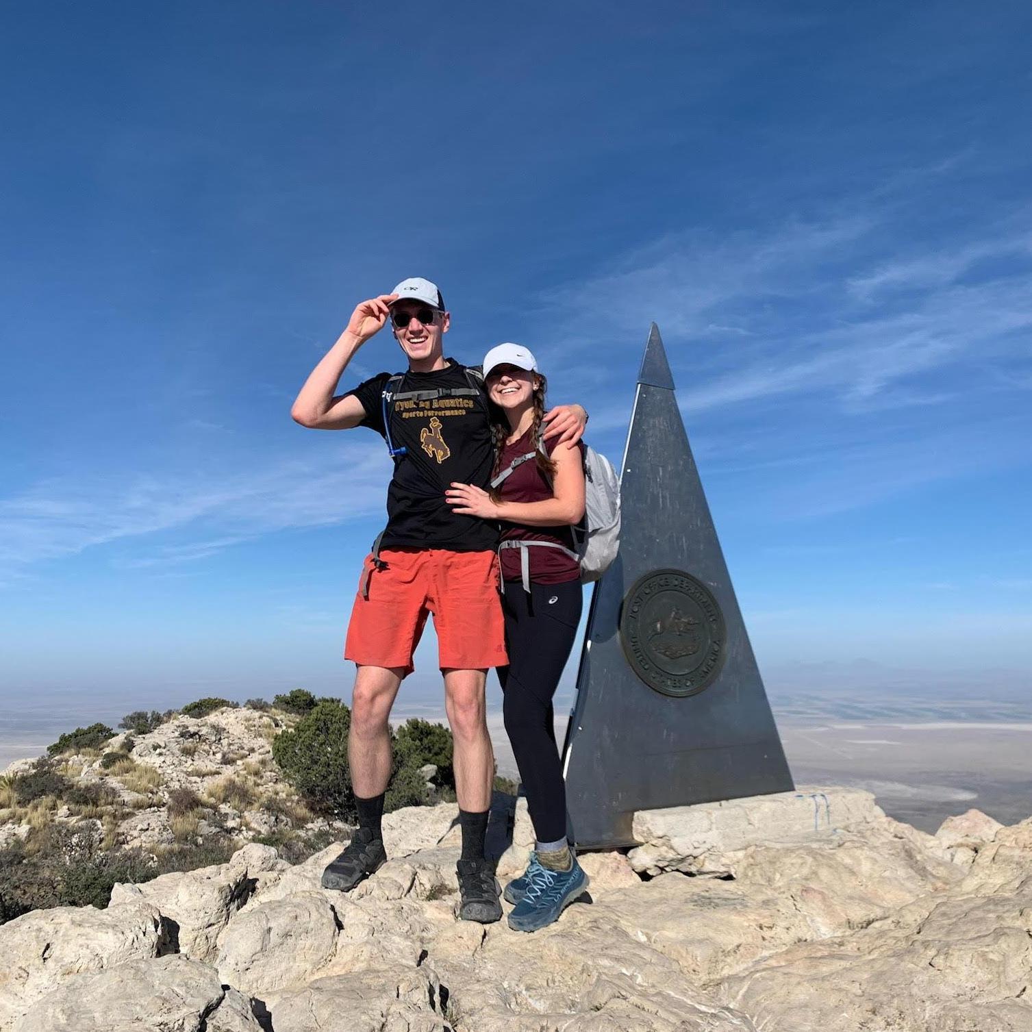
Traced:
<svg viewBox="0 0 1032 1032">
<path fill-rule="evenodd" d="M 584 515 L 582 446 L 541 437 L 545 378 L 534 355 L 499 344 L 484 358 L 495 460 L 490 492 L 452 484 L 455 512 L 502 521 L 498 555 L 509 666 L 498 669 L 506 731 L 537 838 L 526 872 L 506 888 L 509 925 L 533 932 L 555 921 L 587 875 L 567 841 L 567 799 L 552 697 L 581 615 L 580 563 L 572 525 Z"/>
</svg>

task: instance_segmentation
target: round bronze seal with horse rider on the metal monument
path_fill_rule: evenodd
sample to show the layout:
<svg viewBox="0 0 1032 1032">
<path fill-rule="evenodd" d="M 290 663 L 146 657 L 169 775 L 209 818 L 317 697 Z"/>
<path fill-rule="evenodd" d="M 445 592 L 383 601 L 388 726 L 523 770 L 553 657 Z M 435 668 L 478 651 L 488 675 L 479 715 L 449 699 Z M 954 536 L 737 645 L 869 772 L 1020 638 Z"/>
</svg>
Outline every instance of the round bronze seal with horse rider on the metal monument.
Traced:
<svg viewBox="0 0 1032 1032">
<path fill-rule="evenodd" d="M 620 642 L 631 669 L 650 688 L 683 698 L 720 672 L 727 633 L 702 581 L 683 570 L 653 570 L 623 600 Z"/>
</svg>

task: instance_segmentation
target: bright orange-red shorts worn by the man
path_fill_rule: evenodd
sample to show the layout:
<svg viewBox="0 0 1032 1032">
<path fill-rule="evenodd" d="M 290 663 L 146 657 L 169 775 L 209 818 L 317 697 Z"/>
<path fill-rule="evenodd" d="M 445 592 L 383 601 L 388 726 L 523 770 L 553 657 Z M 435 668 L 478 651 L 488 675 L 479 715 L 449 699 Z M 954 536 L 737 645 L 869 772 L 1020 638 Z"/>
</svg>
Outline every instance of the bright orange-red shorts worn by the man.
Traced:
<svg viewBox="0 0 1032 1032">
<path fill-rule="evenodd" d="M 344 657 L 359 666 L 404 667 L 433 614 L 441 668 L 504 667 L 505 622 L 494 552 L 451 552 L 443 548 L 389 548 L 377 570 L 366 555 L 351 610 Z M 362 581 L 368 577 L 368 598 Z"/>
</svg>

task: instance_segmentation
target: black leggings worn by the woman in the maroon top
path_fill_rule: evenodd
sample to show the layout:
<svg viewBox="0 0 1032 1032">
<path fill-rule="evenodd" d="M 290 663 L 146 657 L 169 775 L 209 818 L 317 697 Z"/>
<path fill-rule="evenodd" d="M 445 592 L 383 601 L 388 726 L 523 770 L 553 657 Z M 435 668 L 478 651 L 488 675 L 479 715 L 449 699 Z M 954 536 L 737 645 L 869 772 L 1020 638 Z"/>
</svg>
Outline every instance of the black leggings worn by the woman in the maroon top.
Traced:
<svg viewBox="0 0 1032 1032">
<path fill-rule="evenodd" d="M 503 611 L 509 666 L 498 668 L 503 714 L 539 842 L 567 834 L 567 791 L 555 742 L 552 696 L 577 636 L 579 580 L 565 584 L 505 582 Z"/>
</svg>

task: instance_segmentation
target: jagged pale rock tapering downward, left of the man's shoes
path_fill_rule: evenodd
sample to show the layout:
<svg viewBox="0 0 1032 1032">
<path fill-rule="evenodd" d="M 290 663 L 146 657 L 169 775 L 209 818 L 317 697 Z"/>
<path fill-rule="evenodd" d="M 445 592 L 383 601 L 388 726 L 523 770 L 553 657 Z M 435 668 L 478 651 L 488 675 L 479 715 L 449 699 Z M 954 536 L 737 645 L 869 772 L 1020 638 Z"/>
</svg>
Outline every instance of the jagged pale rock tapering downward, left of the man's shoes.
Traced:
<svg viewBox="0 0 1032 1032">
<path fill-rule="evenodd" d="M 227 864 L 163 874 L 141 885 L 117 884 L 111 903 L 142 896 L 172 923 L 178 948 L 193 960 L 214 960 L 219 933 L 247 902 L 262 874 L 283 867 L 271 846 L 251 844 Z"/>
</svg>

